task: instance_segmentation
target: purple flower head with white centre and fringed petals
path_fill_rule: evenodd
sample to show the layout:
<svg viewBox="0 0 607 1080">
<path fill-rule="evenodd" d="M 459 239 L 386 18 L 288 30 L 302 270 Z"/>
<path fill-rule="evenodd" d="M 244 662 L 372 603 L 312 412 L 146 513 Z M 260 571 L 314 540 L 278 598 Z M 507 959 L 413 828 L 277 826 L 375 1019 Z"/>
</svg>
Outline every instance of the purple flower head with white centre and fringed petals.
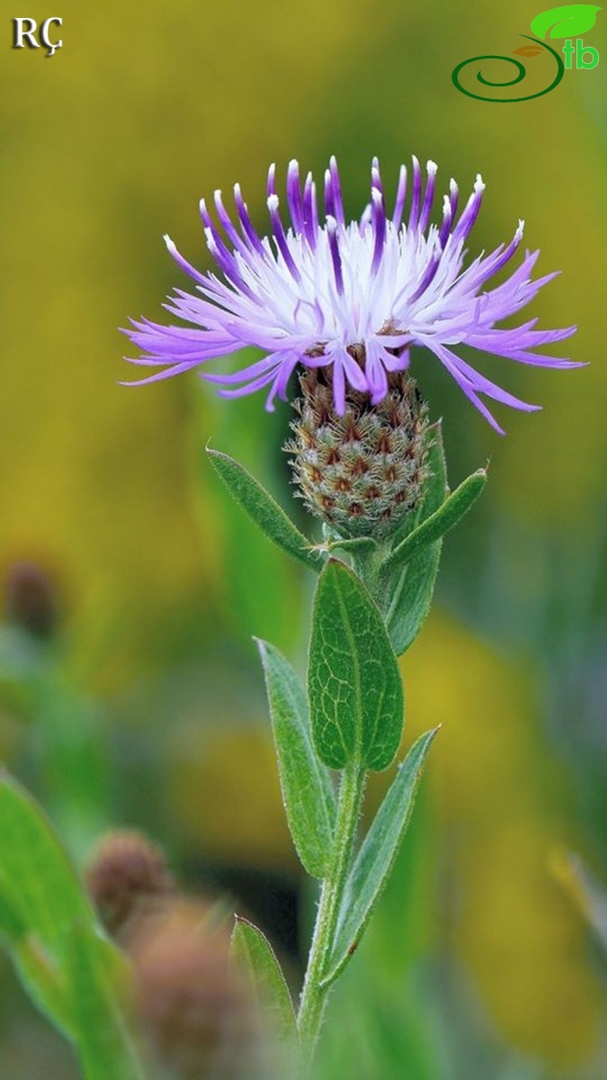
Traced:
<svg viewBox="0 0 607 1080">
<path fill-rule="evenodd" d="M 430 225 L 436 165 L 429 161 L 426 184 L 413 159 L 408 216 L 407 171 L 399 176 L 392 215 L 388 215 L 379 163 L 370 173 L 370 202 L 360 221 L 346 221 L 335 158 L 325 173 L 324 222 L 320 221 L 311 173 L 304 184 L 292 161 L 286 178 L 288 225 L 279 212 L 275 167 L 268 174 L 267 205 L 271 235 L 260 238 L 248 216 L 239 185 L 235 213 L 215 192 L 218 225 L 204 200 L 200 213 L 206 245 L 221 276 L 200 273 L 165 237 L 177 265 L 195 282 L 195 293 L 176 289 L 165 305 L 189 326 L 163 326 L 141 319 L 125 330 L 144 355 L 131 363 L 160 370 L 140 379 L 153 382 L 186 372 L 216 356 L 256 346 L 264 356 L 230 375 L 203 377 L 221 386 L 226 397 L 262 387 L 284 399 L 292 373 L 306 367 L 332 367 L 335 407 L 343 414 L 347 387 L 368 393 L 378 404 L 388 391 L 387 373 L 409 364 L 410 346 L 434 353 L 466 396 L 501 432 L 483 397 L 531 411 L 529 405 L 502 390 L 454 352 L 466 345 L 540 367 L 577 367 L 556 356 L 536 353 L 540 346 L 569 337 L 575 326 L 535 329 L 530 320 L 514 329 L 496 323 L 532 300 L 555 274 L 531 281 L 539 252 L 526 252 L 509 278 L 486 288 L 490 278 L 510 261 L 523 238 L 523 221 L 510 244 L 478 255 L 463 269 L 468 235 L 476 220 L 484 184 L 474 190 L 458 216 L 458 188 L 450 181 L 443 217 Z"/>
</svg>

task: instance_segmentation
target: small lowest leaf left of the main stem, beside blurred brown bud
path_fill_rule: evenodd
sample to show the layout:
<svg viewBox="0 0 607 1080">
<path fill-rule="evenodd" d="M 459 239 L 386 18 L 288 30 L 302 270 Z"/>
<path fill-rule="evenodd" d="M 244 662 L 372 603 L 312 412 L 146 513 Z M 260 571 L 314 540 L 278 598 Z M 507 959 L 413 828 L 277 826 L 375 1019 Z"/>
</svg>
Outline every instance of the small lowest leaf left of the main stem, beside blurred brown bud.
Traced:
<svg viewBox="0 0 607 1080">
<path fill-rule="evenodd" d="M 253 988 L 271 1030 L 279 1039 L 297 1041 L 297 1023 L 291 994 L 268 939 L 257 927 L 237 916 L 232 959 Z"/>
</svg>

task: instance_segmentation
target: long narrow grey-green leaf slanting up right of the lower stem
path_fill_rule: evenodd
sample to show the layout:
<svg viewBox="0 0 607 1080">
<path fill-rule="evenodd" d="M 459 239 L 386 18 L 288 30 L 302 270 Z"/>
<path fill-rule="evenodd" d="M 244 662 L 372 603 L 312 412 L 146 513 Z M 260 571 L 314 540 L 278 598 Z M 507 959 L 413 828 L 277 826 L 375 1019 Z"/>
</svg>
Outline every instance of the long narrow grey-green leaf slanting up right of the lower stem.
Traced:
<svg viewBox="0 0 607 1080">
<path fill-rule="evenodd" d="M 428 731 L 412 746 L 367 833 L 343 892 L 329 971 L 328 986 L 343 970 L 359 945 L 381 896 L 407 831 L 426 756 L 439 729 Z"/>
</svg>

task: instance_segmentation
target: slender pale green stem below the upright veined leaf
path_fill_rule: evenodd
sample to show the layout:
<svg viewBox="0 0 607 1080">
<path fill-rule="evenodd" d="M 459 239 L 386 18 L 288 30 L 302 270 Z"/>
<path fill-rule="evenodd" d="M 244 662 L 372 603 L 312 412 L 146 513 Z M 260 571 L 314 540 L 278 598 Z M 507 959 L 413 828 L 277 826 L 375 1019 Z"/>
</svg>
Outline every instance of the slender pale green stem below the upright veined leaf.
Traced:
<svg viewBox="0 0 607 1080">
<path fill-rule="evenodd" d="M 346 766 L 341 777 L 332 865 L 322 885 L 297 1017 L 301 1048 L 308 1063 L 314 1052 L 329 990 L 328 986 L 323 987 L 321 983 L 327 973 L 337 918 L 356 838 L 365 775 L 365 769 L 354 760 Z"/>
</svg>

